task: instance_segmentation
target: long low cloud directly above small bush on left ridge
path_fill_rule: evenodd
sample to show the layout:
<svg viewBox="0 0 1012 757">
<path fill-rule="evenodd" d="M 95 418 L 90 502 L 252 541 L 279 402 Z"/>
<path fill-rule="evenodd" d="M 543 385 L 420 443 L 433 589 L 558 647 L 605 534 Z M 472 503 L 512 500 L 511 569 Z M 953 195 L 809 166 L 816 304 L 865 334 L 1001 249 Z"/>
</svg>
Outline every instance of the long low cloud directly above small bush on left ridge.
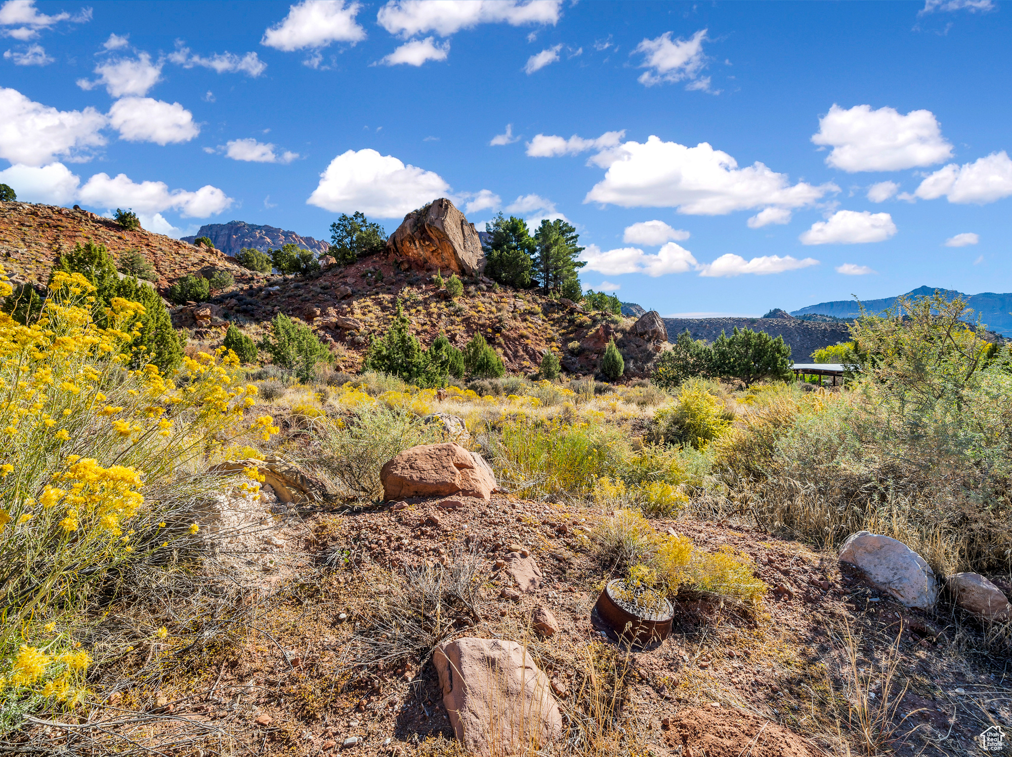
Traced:
<svg viewBox="0 0 1012 757">
<path fill-rule="evenodd" d="M 91 207 L 131 207 L 140 213 L 160 213 L 178 210 L 181 215 L 206 218 L 231 207 L 235 202 L 218 187 L 209 184 L 195 192 L 183 189 L 169 191 L 165 182 L 132 181 L 125 174 L 114 179 L 108 174 L 95 174 L 81 187 L 80 201 Z"/>
</svg>

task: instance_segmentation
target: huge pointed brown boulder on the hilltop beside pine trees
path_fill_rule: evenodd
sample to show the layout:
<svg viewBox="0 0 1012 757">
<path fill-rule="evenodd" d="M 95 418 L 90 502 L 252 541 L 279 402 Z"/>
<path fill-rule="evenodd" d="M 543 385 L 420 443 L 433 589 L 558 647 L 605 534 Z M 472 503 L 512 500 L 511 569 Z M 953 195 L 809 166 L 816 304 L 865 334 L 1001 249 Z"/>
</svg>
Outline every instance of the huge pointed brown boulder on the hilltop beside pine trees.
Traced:
<svg viewBox="0 0 1012 757">
<path fill-rule="evenodd" d="M 468 276 L 485 270 L 485 253 L 475 224 L 445 197 L 404 216 L 387 241 L 387 250 L 418 268 Z"/>
</svg>

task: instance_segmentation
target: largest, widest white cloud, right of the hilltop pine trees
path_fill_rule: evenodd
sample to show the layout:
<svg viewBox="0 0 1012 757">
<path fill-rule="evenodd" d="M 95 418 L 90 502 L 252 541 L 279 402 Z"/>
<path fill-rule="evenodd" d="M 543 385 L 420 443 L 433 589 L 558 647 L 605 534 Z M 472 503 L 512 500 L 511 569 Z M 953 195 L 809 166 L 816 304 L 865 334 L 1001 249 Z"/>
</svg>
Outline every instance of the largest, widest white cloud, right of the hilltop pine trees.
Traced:
<svg viewBox="0 0 1012 757">
<path fill-rule="evenodd" d="M 626 141 L 601 156 L 607 156 L 610 165 L 584 202 L 723 215 L 770 205 L 803 207 L 839 191 L 835 184 L 791 185 L 786 174 L 759 162 L 740 169 L 734 158 L 706 143 L 689 148 L 652 135 L 646 143 Z"/>
</svg>

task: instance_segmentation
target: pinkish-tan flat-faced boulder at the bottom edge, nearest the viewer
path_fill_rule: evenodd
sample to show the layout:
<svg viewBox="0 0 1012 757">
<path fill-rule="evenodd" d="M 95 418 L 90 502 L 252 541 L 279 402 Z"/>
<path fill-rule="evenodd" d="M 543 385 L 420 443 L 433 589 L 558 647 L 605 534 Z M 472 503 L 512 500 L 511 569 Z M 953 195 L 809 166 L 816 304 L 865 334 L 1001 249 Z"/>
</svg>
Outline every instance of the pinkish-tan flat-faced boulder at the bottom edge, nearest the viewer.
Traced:
<svg viewBox="0 0 1012 757">
<path fill-rule="evenodd" d="M 551 683 L 522 645 L 466 637 L 436 647 L 432 662 L 468 754 L 529 754 L 562 738 Z"/>
</svg>

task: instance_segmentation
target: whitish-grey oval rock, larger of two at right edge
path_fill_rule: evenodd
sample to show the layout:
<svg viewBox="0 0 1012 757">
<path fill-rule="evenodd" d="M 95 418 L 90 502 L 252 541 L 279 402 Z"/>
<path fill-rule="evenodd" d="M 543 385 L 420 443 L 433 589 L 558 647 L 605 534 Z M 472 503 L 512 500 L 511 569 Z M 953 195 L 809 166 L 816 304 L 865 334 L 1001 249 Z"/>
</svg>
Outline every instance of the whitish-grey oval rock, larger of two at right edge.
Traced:
<svg viewBox="0 0 1012 757">
<path fill-rule="evenodd" d="M 840 562 L 860 568 L 876 587 L 908 607 L 933 607 L 938 599 L 934 571 L 903 542 L 859 531 L 840 548 Z"/>
</svg>

